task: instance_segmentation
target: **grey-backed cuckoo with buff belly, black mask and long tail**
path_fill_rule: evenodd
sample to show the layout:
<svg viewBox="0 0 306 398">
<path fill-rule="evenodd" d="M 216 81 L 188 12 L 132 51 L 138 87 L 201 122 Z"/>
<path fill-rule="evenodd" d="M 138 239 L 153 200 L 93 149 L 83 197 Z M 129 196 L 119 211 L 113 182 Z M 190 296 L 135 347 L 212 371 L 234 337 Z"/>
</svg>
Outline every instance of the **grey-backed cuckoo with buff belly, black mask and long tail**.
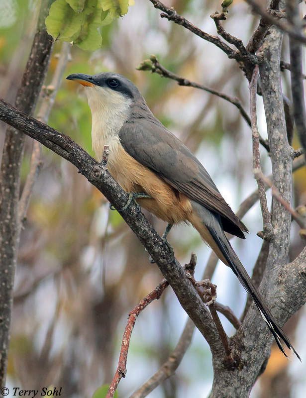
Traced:
<svg viewBox="0 0 306 398">
<path fill-rule="evenodd" d="M 107 168 L 113 178 L 126 192 L 134 193 L 142 207 L 170 226 L 192 224 L 251 295 L 280 350 L 285 354 L 282 339 L 296 353 L 224 234 L 244 239 L 246 226 L 199 160 L 156 119 L 137 87 L 124 76 L 77 73 L 67 79 L 85 86 L 93 119 L 93 148 L 101 161 L 104 145 L 109 146 Z"/>
</svg>

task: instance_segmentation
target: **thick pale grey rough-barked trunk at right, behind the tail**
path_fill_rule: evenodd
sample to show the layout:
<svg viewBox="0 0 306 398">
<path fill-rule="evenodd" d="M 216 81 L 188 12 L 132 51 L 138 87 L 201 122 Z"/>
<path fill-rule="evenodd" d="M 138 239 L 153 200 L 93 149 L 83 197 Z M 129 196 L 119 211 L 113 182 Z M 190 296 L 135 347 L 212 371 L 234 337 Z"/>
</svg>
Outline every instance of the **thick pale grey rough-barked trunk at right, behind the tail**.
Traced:
<svg viewBox="0 0 306 398">
<path fill-rule="evenodd" d="M 280 54 L 283 33 L 272 26 L 262 46 L 260 64 L 261 88 L 264 100 L 273 181 L 281 194 L 291 202 L 292 148 L 288 143 L 281 92 Z M 287 264 L 291 215 L 275 199 L 272 204 L 274 238 L 260 292 L 272 313 L 283 325 L 306 301 L 306 250 Z M 273 338 L 260 313 L 252 304 L 245 319 L 233 337 L 237 353 L 241 354 L 240 367 L 228 371 L 218 364 L 214 367 L 214 380 L 210 398 L 248 397 L 265 366 Z"/>
</svg>

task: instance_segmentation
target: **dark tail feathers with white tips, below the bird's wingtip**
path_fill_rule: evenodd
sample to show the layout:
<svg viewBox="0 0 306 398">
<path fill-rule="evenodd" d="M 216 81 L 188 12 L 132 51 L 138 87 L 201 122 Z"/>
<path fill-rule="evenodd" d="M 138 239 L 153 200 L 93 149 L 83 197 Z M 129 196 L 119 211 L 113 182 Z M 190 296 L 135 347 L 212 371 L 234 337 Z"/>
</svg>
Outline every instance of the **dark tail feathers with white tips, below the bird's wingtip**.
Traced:
<svg viewBox="0 0 306 398">
<path fill-rule="evenodd" d="M 267 305 L 263 302 L 263 299 L 261 298 L 257 289 L 255 288 L 253 282 L 251 281 L 246 270 L 244 269 L 243 265 L 241 264 L 240 260 L 238 259 L 236 253 L 234 252 L 233 248 L 231 247 L 226 236 L 223 234 L 223 236 L 220 237 L 217 234 L 217 232 L 215 231 L 215 229 L 211 226 L 206 225 L 206 228 L 208 229 L 209 233 L 211 234 L 211 237 L 213 238 L 214 242 L 218 246 L 219 250 L 221 251 L 221 253 L 224 256 L 225 260 L 227 261 L 228 265 L 233 270 L 234 274 L 237 276 L 237 278 L 239 279 L 239 281 L 242 284 L 242 286 L 244 287 L 244 289 L 253 298 L 262 317 L 267 322 L 267 325 L 268 325 L 269 329 L 271 330 L 271 333 L 273 334 L 279 349 L 287 357 L 285 350 L 282 346 L 282 342 L 281 342 L 281 339 L 282 339 L 284 341 L 284 343 L 286 344 L 286 346 L 294 354 L 296 354 L 296 356 L 302 362 L 299 354 L 296 352 L 296 350 L 291 345 L 289 338 L 286 336 L 286 334 L 284 333 L 282 328 L 278 325 L 276 319 L 271 314 Z"/>
</svg>

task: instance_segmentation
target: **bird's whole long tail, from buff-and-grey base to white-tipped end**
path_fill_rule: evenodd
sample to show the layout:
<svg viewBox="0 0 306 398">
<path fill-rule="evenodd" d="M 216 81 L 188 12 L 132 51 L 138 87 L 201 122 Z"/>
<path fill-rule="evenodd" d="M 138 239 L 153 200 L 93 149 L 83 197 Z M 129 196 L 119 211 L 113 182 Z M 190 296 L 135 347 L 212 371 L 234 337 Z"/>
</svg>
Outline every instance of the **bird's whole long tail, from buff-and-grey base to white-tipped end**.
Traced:
<svg viewBox="0 0 306 398">
<path fill-rule="evenodd" d="M 294 354 L 296 354 L 296 356 L 301 361 L 299 354 L 293 348 L 292 344 L 289 341 L 289 338 L 286 336 L 274 316 L 271 314 L 269 308 L 264 303 L 251 278 L 249 277 L 248 273 L 244 269 L 236 253 L 231 247 L 231 244 L 224 234 L 220 216 L 194 201 L 192 201 L 192 206 L 194 213 L 190 221 L 192 222 L 194 227 L 200 232 L 204 241 L 209 244 L 212 250 L 220 258 L 220 260 L 232 269 L 236 277 L 239 279 L 241 285 L 253 298 L 255 304 L 257 305 L 257 308 L 259 309 L 262 317 L 266 321 L 271 333 L 273 334 L 279 349 L 287 357 L 286 352 L 282 346 L 282 339 L 286 346 Z"/>
</svg>

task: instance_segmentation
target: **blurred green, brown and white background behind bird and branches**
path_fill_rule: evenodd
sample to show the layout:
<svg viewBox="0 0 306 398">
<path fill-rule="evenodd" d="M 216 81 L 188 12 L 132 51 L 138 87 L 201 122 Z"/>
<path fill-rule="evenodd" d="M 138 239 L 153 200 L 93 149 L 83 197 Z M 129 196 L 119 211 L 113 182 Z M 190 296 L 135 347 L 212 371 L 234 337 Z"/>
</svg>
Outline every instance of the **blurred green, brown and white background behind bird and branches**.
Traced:
<svg viewBox="0 0 306 398">
<path fill-rule="evenodd" d="M 220 10 L 219 2 L 175 0 L 167 1 L 167 5 L 174 6 L 208 33 L 216 34 L 209 15 Z M 30 50 L 38 7 L 36 0 L 0 3 L 0 97 L 12 103 Z M 247 80 L 235 61 L 181 26 L 161 19 L 159 14 L 149 1 L 136 0 L 124 18 L 103 27 L 99 50 L 92 53 L 72 46 L 49 124 L 70 135 L 94 156 L 87 99 L 82 87 L 65 77 L 102 71 L 123 74 L 137 85 L 165 126 L 197 154 L 236 211 L 256 188 L 251 132 L 236 107 L 135 68 L 155 54 L 172 72 L 238 97 L 248 111 Z M 258 17 L 247 5 L 235 0 L 224 27 L 247 44 L 257 24 Z M 46 85 L 52 79 L 61 46 L 62 43 L 55 43 Z M 289 59 L 286 40 L 283 59 Z M 288 97 L 289 79 L 289 72 L 284 72 L 283 89 Z M 258 116 L 260 133 L 266 137 L 260 98 Z M 0 143 L 3 124 L 1 128 Z M 295 147 L 299 147 L 297 141 Z M 29 169 L 31 148 L 32 142 L 27 139 L 22 181 Z M 19 247 L 8 383 L 23 389 L 62 387 L 64 397 L 91 397 L 113 377 L 129 311 L 155 288 L 162 276 L 149 263 L 148 254 L 120 215 L 109 210 L 102 195 L 71 164 L 46 148 L 42 161 Z M 264 172 L 270 173 L 265 150 L 262 161 Z M 306 202 L 305 178 L 305 170 L 295 175 L 295 205 Z M 149 214 L 148 217 L 162 233 L 163 222 Z M 262 228 L 258 204 L 244 222 L 250 233 L 243 242 L 234 239 L 233 246 L 251 273 L 262 243 L 256 236 Z M 176 227 L 169 240 L 182 264 L 189 261 L 191 251 L 197 252 L 196 276 L 201 279 L 209 249 L 198 234 L 190 226 Z M 293 227 L 292 258 L 302 248 L 298 230 Z M 219 264 L 212 282 L 217 284 L 218 300 L 239 316 L 246 296 L 231 271 Z M 119 385 L 119 397 L 132 394 L 168 358 L 185 321 L 186 314 L 170 289 L 141 313 L 132 335 L 127 377 Z M 222 322 L 226 331 L 233 334 L 233 327 L 223 317 Z M 302 309 L 285 328 L 302 357 L 306 355 L 305 322 Z M 290 363 L 273 348 L 267 372 L 251 397 L 304 397 L 305 361 L 299 367 L 296 362 Z M 211 381 L 209 348 L 196 331 L 176 375 L 151 397 L 206 397 Z"/>
</svg>

